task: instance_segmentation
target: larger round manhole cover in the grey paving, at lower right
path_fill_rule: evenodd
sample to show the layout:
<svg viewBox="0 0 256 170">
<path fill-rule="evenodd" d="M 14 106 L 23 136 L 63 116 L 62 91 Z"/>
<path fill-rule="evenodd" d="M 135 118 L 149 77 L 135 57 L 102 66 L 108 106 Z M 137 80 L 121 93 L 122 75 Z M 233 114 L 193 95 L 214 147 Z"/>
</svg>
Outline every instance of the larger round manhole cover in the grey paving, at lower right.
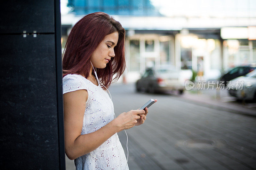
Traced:
<svg viewBox="0 0 256 170">
<path fill-rule="evenodd" d="M 184 141 L 182 145 L 189 148 L 212 148 L 216 143 L 209 139 L 189 139 Z"/>
</svg>

